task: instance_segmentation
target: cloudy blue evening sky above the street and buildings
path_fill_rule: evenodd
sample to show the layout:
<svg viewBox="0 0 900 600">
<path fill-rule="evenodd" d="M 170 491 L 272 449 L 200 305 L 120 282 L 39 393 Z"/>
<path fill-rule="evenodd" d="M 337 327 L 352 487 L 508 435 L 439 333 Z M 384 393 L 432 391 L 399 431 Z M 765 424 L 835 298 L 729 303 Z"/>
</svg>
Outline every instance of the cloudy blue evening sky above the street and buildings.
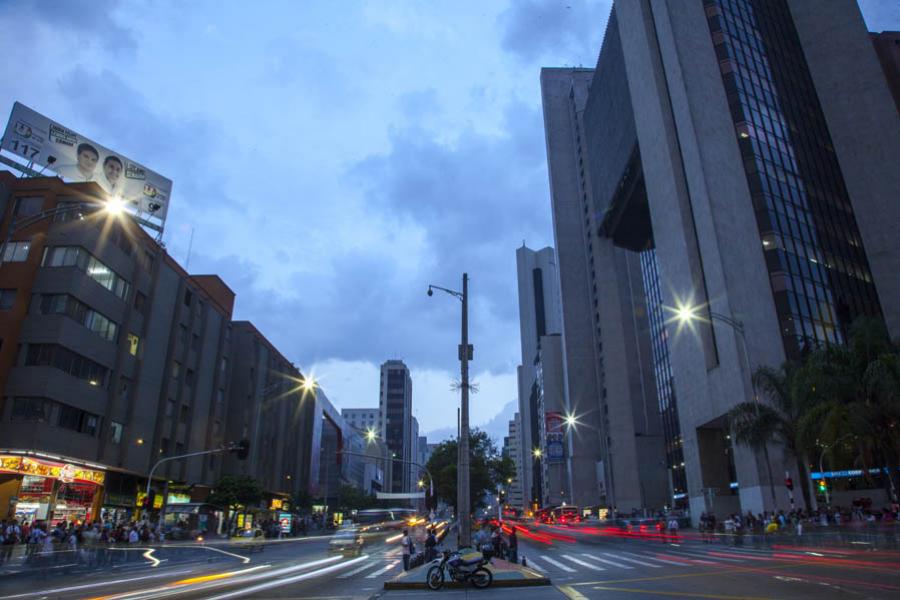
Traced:
<svg viewBox="0 0 900 600">
<path fill-rule="evenodd" d="M 168 252 L 339 408 L 377 406 L 403 359 L 429 441 L 455 432 L 460 305 L 425 290 L 468 272 L 471 420 L 499 439 L 515 249 L 552 244 L 540 67 L 594 66 L 610 4 L 0 0 L 0 115 L 18 100 L 172 179 Z M 900 29 L 900 3 L 860 6 Z"/>
</svg>

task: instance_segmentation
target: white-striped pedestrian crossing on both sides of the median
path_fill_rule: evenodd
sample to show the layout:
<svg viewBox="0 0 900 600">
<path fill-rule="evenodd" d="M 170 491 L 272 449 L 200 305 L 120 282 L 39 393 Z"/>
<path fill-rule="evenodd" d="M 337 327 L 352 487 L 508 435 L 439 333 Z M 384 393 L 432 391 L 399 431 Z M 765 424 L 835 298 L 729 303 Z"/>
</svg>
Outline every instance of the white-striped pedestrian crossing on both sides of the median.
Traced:
<svg viewBox="0 0 900 600">
<path fill-rule="evenodd" d="M 557 551 L 558 550 L 558 551 Z M 686 569 L 691 567 L 737 567 L 753 561 L 773 560 L 768 550 L 734 547 L 696 547 L 672 544 L 653 548 L 649 545 L 634 546 L 631 550 L 607 552 L 601 549 L 584 552 L 584 546 L 572 549 L 520 548 L 527 566 L 541 574 L 571 578 L 577 574 L 611 575 L 617 571 L 635 569 Z M 340 572 L 337 579 L 376 579 L 393 577 L 403 570 L 396 549 L 372 556 L 362 565 L 354 565 L 347 572 Z"/>
</svg>

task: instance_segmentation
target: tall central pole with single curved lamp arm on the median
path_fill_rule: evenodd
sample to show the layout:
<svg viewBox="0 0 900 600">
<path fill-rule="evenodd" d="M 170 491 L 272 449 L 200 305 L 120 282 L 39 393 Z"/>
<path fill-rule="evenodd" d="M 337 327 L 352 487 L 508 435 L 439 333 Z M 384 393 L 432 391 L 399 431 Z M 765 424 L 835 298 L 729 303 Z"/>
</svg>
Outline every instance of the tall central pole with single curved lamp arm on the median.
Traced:
<svg viewBox="0 0 900 600">
<path fill-rule="evenodd" d="M 457 481 L 456 481 L 456 510 L 459 521 L 459 545 L 468 546 L 472 537 L 472 522 L 470 518 L 469 497 L 469 361 L 472 360 L 473 347 L 469 344 L 469 274 L 463 273 L 463 291 L 457 292 L 441 287 L 429 285 L 428 295 L 434 294 L 433 290 L 441 290 L 462 302 L 462 335 L 459 345 L 459 371 L 460 371 L 460 412 L 459 412 L 459 443 L 457 445 Z"/>
</svg>

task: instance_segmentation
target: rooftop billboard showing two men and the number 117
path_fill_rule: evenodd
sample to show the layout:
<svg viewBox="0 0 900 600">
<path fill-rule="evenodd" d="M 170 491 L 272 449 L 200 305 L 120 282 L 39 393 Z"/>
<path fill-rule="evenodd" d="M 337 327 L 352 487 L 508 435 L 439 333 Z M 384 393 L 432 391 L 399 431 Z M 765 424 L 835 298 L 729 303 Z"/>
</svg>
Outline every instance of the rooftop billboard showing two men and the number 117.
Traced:
<svg viewBox="0 0 900 600">
<path fill-rule="evenodd" d="M 20 102 L 13 105 L 2 147 L 66 181 L 95 182 L 111 197 L 121 198 L 143 224 L 162 230 L 172 181 L 140 163 Z"/>
</svg>

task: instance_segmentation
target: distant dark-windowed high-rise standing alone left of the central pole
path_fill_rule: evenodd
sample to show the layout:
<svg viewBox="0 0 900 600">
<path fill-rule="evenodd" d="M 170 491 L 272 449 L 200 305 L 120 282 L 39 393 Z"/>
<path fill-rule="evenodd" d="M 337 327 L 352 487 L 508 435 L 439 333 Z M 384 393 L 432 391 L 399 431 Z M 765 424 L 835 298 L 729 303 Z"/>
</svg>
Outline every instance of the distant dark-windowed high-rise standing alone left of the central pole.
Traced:
<svg viewBox="0 0 900 600">
<path fill-rule="evenodd" d="M 401 460 L 391 466 L 390 490 L 411 492 L 410 469 L 413 460 L 412 378 L 402 360 L 389 360 L 381 365 L 381 395 L 378 401 L 381 416 L 381 439 L 391 454 Z M 412 484 L 415 485 L 414 483 Z"/>
</svg>

